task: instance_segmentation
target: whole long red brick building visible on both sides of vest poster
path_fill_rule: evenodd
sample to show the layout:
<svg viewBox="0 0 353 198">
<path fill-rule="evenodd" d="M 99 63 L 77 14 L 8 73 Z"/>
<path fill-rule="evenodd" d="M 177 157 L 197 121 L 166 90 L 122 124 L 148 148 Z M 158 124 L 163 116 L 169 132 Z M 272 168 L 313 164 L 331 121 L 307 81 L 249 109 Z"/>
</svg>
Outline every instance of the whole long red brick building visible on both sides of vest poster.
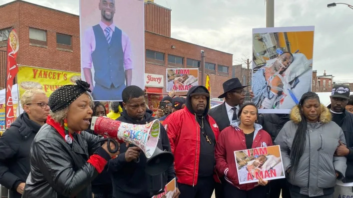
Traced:
<svg viewBox="0 0 353 198">
<path fill-rule="evenodd" d="M 0 50 L 5 51 L 10 28 L 20 38 L 17 62 L 80 72 L 79 16 L 30 2 L 15 0 L 0 6 Z M 166 68 L 201 68 L 209 74 L 211 97 L 222 93 L 222 83 L 232 77 L 233 55 L 171 38 L 171 9 L 145 2 L 145 73 L 159 74 L 166 81 Z M 204 51 L 204 57 L 201 57 Z M 0 55 L 0 62 L 4 62 Z M 5 64 L 0 64 L 0 88 L 5 87 Z M 164 82 L 166 86 L 166 82 Z M 166 93 L 165 88 L 163 92 Z"/>
</svg>

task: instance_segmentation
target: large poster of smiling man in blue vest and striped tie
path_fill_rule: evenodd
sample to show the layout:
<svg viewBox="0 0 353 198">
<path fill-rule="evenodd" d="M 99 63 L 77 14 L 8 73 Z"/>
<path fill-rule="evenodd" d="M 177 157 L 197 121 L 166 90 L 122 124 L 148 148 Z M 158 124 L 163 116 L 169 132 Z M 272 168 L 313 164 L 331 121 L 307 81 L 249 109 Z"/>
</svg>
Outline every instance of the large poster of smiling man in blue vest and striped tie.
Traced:
<svg viewBox="0 0 353 198">
<path fill-rule="evenodd" d="M 80 0 L 81 76 L 96 101 L 122 101 L 143 87 L 144 1 Z"/>
</svg>

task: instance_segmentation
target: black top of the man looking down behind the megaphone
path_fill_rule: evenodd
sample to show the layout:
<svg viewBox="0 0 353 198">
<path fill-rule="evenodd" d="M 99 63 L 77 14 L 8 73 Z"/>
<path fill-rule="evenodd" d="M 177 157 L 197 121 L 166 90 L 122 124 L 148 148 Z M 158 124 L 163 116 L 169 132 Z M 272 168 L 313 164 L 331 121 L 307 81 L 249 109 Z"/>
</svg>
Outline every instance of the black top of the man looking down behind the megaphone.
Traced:
<svg viewBox="0 0 353 198">
<path fill-rule="evenodd" d="M 117 120 L 131 124 L 146 124 L 155 119 L 152 117 L 152 111 L 149 109 L 146 109 L 142 120 L 129 117 L 124 109 Z M 129 147 L 134 146 L 132 144 L 129 145 Z M 171 151 L 167 132 L 162 125 L 160 141 L 157 147 L 161 150 Z M 121 144 L 120 155 L 116 159 L 109 161 L 108 172 L 111 174 L 113 181 L 113 198 L 151 198 L 175 178 L 174 165 L 161 175 L 148 176 L 145 173 L 146 156 L 141 153 L 138 163 L 134 161 L 126 162 L 125 152 L 127 149 L 125 144 Z"/>
</svg>

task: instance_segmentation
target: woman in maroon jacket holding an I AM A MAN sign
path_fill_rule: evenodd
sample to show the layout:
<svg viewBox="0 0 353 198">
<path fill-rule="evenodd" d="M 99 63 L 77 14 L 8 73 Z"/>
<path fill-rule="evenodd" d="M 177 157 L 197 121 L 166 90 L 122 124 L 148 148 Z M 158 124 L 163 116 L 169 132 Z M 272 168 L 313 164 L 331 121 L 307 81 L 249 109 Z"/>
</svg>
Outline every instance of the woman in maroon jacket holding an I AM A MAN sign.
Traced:
<svg viewBox="0 0 353 198">
<path fill-rule="evenodd" d="M 253 103 L 242 106 L 238 118 L 239 121 L 232 121 L 220 133 L 215 149 L 216 170 L 226 180 L 223 185 L 224 197 L 232 198 L 236 195 L 237 198 L 265 198 L 268 181 L 259 179 L 258 183 L 239 184 L 234 151 L 272 146 L 271 136 L 255 123 L 257 108 Z"/>
</svg>

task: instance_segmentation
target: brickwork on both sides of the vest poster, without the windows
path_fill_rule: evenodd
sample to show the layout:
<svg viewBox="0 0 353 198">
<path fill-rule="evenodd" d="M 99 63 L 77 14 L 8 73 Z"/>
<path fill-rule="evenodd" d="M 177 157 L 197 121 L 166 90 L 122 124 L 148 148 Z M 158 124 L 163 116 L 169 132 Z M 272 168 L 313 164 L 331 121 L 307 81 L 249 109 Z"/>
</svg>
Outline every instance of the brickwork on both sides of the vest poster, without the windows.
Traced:
<svg viewBox="0 0 353 198">
<path fill-rule="evenodd" d="M 152 3 L 147 4 L 155 6 L 156 9 L 151 15 L 151 19 L 158 18 L 158 15 L 155 14 L 158 10 L 163 11 L 163 8 Z M 15 27 L 20 37 L 18 64 L 80 72 L 80 26 L 78 15 L 21 0 L 0 6 L 0 13 L 2 13 L 0 29 Z M 206 79 L 206 75 L 210 75 L 211 97 L 217 97 L 223 93 L 222 83 L 232 76 L 233 55 L 170 38 L 170 10 L 165 10 L 159 17 L 164 17 L 164 19 L 162 18 L 158 24 L 146 23 L 146 25 L 150 25 L 152 29 L 158 30 L 159 33 L 167 36 L 145 31 L 145 48 L 165 53 L 165 61 L 162 64 L 152 64 L 146 61 L 145 72 L 164 75 L 164 79 L 167 79 L 166 68 L 173 68 L 168 66 L 170 65 L 168 64 L 168 54 L 184 57 L 183 65 L 174 66 L 193 68 L 186 65 L 187 58 L 201 61 L 201 50 L 204 50 L 205 62 L 216 64 L 215 71 L 205 70 L 204 76 L 204 79 Z M 162 22 L 167 24 L 163 26 Z M 159 28 L 156 25 L 159 25 Z M 47 31 L 46 47 L 30 45 L 30 27 Z M 72 36 L 71 51 L 57 49 L 56 33 Z M 3 45 L 1 45 L 2 43 Z M 6 41 L 2 43 L 0 43 L 0 50 L 6 50 Z M 172 45 L 175 46 L 174 49 L 171 47 Z M 229 73 L 218 72 L 218 64 L 228 66 Z M 0 65 L 0 71 L 2 71 L 1 80 L 5 82 L 5 65 Z M 199 72 L 199 84 L 201 85 L 201 71 Z M 166 83 L 164 83 L 164 86 L 166 86 Z M 163 91 L 166 93 L 166 89 Z M 181 94 L 186 94 L 186 92 Z"/>
</svg>

